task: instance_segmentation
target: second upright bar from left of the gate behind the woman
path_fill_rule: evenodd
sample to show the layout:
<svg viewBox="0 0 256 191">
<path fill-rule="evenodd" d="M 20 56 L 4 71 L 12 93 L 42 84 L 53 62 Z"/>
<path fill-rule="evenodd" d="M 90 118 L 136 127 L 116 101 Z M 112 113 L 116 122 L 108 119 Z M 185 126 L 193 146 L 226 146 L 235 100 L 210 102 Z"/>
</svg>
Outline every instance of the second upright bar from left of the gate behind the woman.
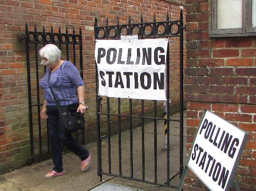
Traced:
<svg viewBox="0 0 256 191">
<path fill-rule="evenodd" d="M 36 32 L 36 26 L 35 26 Z M 42 154 L 42 132 L 40 118 L 40 95 L 39 95 L 39 75 L 38 75 L 38 53 L 37 44 L 35 44 L 35 73 L 36 73 L 36 95 L 37 95 L 37 119 L 38 119 L 38 136 L 39 136 L 39 152 Z"/>
</svg>

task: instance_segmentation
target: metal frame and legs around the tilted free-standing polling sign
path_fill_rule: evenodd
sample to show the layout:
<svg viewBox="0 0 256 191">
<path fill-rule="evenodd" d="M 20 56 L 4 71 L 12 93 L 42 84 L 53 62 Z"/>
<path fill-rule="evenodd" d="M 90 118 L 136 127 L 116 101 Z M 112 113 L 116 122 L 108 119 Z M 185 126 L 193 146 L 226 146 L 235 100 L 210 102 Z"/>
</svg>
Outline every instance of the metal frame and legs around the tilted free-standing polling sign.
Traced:
<svg viewBox="0 0 256 191">
<path fill-rule="evenodd" d="M 187 163 L 185 164 L 185 169 L 184 169 L 184 171 L 183 171 L 183 173 L 182 173 L 182 176 L 181 176 L 181 179 L 180 179 L 180 183 L 179 183 L 179 185 L 178 185 L 178 187 L 177 187 L 177 191 L 181 191 L 181 190 L 182 190 L 182 187 L 183 187 L 183 184 L 184 184 L 184 181 L 185 181 L 185 177 L 186 177 L 186 174 L 187 174 L 187 172 L 188 172 L 189 169 L 195 174 L 194 170 L 191 169 L 191 168 L 188 166 L 188 163 L 189 163 L 189 160 L 190 160 L 190 156 L 191 156 L 191 153 L 192 153 L 192 149 L 193 149 L 193 146 L 194 146 L 194 142 L 195 142 L 196 136 L 198 135 L 199 128 L 200 128 L 200 126 L 201 126 L 201 124 L 202 124 L 202 122 L 203 122 L 204 116 L 205 116 L 205 114 L 206 114 L 207 111 L 210 112 L 210 113 L 212 113 L 212 112 L 209 111 L 209 110 L 203 110 L 203 115 L 202 115 L 202 117 L 201 117 L 201 119 L 200 119 L 199 126 L 198 126 L 197 132 L 196 132 L 196 134 L 195 134 L 195 137 L 194 137 L 194 140 L 193 140 L 193 144 L 192 144 L 192 146 L 191 146 L 191 150 L 190 150 L 190 154 L 189 154 L 189 157 L 188 157 L 188 161 L 187 161 Z M 212 114 L 214 114 L 214 113 L 212 113 Z M 215 115 L 215 114 L 214 114 L 214 115 Z M 225 119 L 223 119 L 223 120 L 225 120 Z M 225 120 L 225 121 L 226 121 L 226 120 Z M 226 122 L 228 122 L 228 121 L 226 121 Z M 230 123 L 230 122 L 228 122 L 228 123 Z M 232 123 L 230 123 L 230 124 L 233 125 Z M 234 125 L 233 125 L 233 126 L 234 126 Z M 238 161 L 239 161 L 240 158 L 241 158 L 241 154 L 242 154 L 242 152 L 243 152 L 244 145 L 245 145 L 245 142 L 246 142 L 247 137 L 248 137 L 248 132 L 244 131 L 243 129 L 240 129 L 240 130 L 245 133 L 245 136 L 244 136 L 243 141 L 242 141 L 242 143 L 241 143 L 241 147 L 240 147 L 240 149 L 239 149 L 239 151 L 238 151 L 238 155 L 237 155 L 237 158 L 236 158 L 236 160 L 235 160 L 235 162 L 234 162 L 233 170 L 232 170 L 231 173 L 230 173 L 230 179 L 229 179 L 228 182 L 227 182 L 227 186 L 226 186 L 225 191 L 228 191 L 229 188 L 230 188 L 230 186 L 233 187 L 233 185 L 234 185 L 234 187 L 236 188 L 237 191 L 240 190 L 240 189 L 239 189 L 239 186 L 238 186 L 237 180 L 234 179 L 234 174 L 235 174 L 235 172 L 236 172 L 236 169 L 237 169 L 237 166 L 238 166 Z M 195 174 L 195 175 L 197 176 L 197 174 Z M 204 183 L 204 185 L 205 185 L 209 190 L 212 191 L 212 189 L 211 189 L 210 187 L 208 187 L 208 185 L 207 185 L 199 176 L 197 176 L 197 178 L 199 178 L 199 179 Z"/>
</svg>

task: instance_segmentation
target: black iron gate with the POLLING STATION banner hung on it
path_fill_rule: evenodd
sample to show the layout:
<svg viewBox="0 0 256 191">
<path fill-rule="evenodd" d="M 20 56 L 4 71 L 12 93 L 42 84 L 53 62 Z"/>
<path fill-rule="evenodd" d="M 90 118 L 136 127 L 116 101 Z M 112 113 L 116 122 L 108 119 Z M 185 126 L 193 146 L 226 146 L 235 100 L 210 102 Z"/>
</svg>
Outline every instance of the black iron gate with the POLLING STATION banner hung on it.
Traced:
<svg viewBox="0 0 256 191">
<path fill-rule="evenodd" d="M 177 28 L 177 31 L 173 32 L 172 28 Z M 183 171 L 183 30 L 185 27 L 183 26 L 183 13 L 182 10 L 180 12 L 180 20 L 177 21 L 169 21 L 169 16 L 167 13 L 166 21 L 156 21 L 155 15 L 153 22 L 143 22 L 143 17 L 141 15 L 141 22 L 132 24 L 131 19 L 129 17 L 128 24 L 119 25 L 119 18 L 117 17 L 117 24 L 116 25 L 108 25 L 108 20 L 106 19 L 106 25 L 105 26 L 98 26 L 97 24 L 97 18 L 95 18 L 95 25 L 94 25 L 94 32 L 95 32 L 95 40 L 97 39 L 120 39 L 121 35 L 133 35 L 134 32 L 137 32 L 138 38 L 145 39 L 145 38 L 169 38 L 169 37 L 178 37 L 180 40 L 180 49 L 179 49 L 179 55 L 180 55 L 180 119 L 170 119 L 169 117 L 169 101 L 167 101 L 167 119 L 162 117 L 157 117 L 157 101 L 154 100 L 153 104 L 153 110 L 154 110 L 154 116 L 149 117 L 144 115 L 144 100 L 141 100 L 141 112 L 140 115 L 133 115 L 132 114 L 132 99 L 129 99 L 128 105 L 129 105 L 129 114 L 128 115 L 122 115 L 121 114 L 121 99 L 118 98 L 118 114 L 111 114 L 110 113 L 110 98 L 107 97 L 106 101 L 102 100 L 102 97 L 98 95 L 98 73 L 97 73 L 97 64 L 96 65 L 96 83 L 97 83 L 97 89 L 96 89 L 96 104 L 97 104 L 97 173 L 98 176 L 100 176 L 100 179 L 102 181 L 102 174 L 105 175 L 111 175 L 116 177 L 122 177 L 122 178 L 128 178 L 132 180 L 137 180 L 145 183 L 153 183 L 160 186 L 167 186 L 167 187 L 173 187 L 177 188 L 175 185 L 170 185 L 170 180 L 173 177 L 170 177 L 170 137 L 169 137 L 169 126 L 171 121 L 179 121 L 179 172 L 177 174 L 180 174 L 180 177 L 182 175 Z M 122 32 L 123 30 L 126 30 L 127 32 Z M 160 32 L 159 32 L 160 31 Z M 168 43 L 168 49 L 167 49 L 167 72 L 166 72 L 166 79 L 167 80 L 167 100 L 170 100 L 169 98 L 169 43 Z M 105 102 L 107 105 L 106 112 L 102 112 L 102 102 Z M 101 120 L 103 117 L 106 117 L 106 138 L 107 138 L 107 157 L 108 157 L 108 171 L 104 171 L 102 169 L 102 138 L 105 136 L 102 136 L 101 134 Z M 118 127 L 118 172 L 112 173 L 111 170 L 111 141 L 110 141 L 110 126 L 113 127 L 113 125 L 110 125 L 110 118 L 115 118 L 117 120 L 116 126 Z M 125 176 L 123 174 L 123 166 L 122 166 L 122 148 L 121 148 L 121 118 L 128 118 L 128 126 L 129 126 L 129 136 L 130 136 L 130 176 Z M 140 119 L 141 121 L 141 178 L 134 178 L 133 174 L 133 120 L 132 119 Z M 154 181 L 147 181 L 145 179 L 145 120 L 152 119 L 154 120 L 154 157 L 152 156 L 152 161 L 154 160 Z M 159 183 L 157 180 L 157 122 L 159 120 L 165 121 L 167 123 L 167 151 L 166 151 L 166 158 L 167 158 L 167 165 L 166 165 L 166 182 L 165 183 Z M 104 124 L 103 124 L 104 125 Z M 103 133 L 104 135 L 104 133 Z M 153 148 L 152 148 L 153 150 Z M 104 152 L 105 150 L 103 150 Z M 153 167 L 152 167 L 153 168 Z M 176 175 L 177 175 L 176 174 Z"/>
</svg>

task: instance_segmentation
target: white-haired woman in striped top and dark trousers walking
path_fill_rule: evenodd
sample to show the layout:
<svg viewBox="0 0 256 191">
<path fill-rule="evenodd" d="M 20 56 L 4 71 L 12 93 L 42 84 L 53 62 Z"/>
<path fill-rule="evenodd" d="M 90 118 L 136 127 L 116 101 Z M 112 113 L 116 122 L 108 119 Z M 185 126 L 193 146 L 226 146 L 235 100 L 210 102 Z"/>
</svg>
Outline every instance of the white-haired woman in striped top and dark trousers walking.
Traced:
<svg viewBox="0 0 256 191">
<path fill-rule="evenodd" d="M 61 51 L 53 44 L 47 44 L 39 51 L 42 64 L 46 65 L 46 72 L 40 81 L 40 87 L 44 89 L 44 103 L 40 111 L 41 119 L 49 119 L 49 134 L 53 157 L 53 170 L 45 175 L 45 178 L 52 178 L 65 174 L 62 166 L 62 144 L 81 159 L 81 171 L 88 169 L 91 161 L 91 154 L 87 149 L 71 136 L 71 133 L 64 133 L 59 126 L 57 104 L 49 85 L 53 89 L 59 104 L 67 108 L 77 108 L 77 112 L 84 114 L 84 82 L 81 79 L 75 65 L 67 60 L 61 59 Z M 49 79 L 50 74 L 50 79 Z M 77 96 L 78 98 L 77 98 Z"/>
</svg>

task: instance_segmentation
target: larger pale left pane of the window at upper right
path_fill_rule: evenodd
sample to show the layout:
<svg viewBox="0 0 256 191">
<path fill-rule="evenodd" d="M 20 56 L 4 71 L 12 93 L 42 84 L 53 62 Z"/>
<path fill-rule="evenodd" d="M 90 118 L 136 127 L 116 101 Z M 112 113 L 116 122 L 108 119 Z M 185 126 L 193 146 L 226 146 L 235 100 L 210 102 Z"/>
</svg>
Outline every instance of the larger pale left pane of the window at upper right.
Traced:
<svg viewBox="0 0 256 191">
<path fill-rule="evenodd" d="M 243 0 L 217 0 L 217 29 L 242 28 Z"/>
</svg>

